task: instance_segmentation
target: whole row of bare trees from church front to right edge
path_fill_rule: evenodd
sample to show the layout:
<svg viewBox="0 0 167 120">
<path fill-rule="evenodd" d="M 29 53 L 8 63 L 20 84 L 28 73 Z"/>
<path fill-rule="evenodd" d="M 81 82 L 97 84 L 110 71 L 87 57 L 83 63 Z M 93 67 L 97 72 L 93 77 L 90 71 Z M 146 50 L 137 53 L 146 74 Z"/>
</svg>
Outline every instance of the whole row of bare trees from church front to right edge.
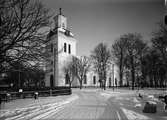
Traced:
<svg viewBox="0 0 167 120">
<path fill-rule="evenodd" d="M 89 58 L 73 57 L 65 71 L 70 75 L 70 84 L 77 77 L 82 87 L 84 75 L 90 68 L 99 77 L 100 87 L 105 89 L 108 68 L 113 62 L 119 68 L 119 85 L 138 87 L 165 87 L 167 84 L 167 28 L 152 34 L 148 43 L 139 33 L 121 35 L 111 49 L 99 43 Z"/>
</svg>

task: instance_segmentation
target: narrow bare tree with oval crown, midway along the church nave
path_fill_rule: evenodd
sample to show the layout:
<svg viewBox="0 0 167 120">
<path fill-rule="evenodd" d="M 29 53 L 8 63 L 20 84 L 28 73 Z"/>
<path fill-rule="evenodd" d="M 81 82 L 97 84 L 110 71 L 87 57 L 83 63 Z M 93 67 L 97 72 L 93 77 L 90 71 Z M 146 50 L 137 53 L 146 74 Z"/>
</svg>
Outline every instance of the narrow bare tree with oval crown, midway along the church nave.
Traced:
<svg viewBox="0 0 167 120">
<path fill-rule="evenodd" d="M 106 88 L 106 74 L 110 56 L 110 51 L 104 43 L 98 44 L 91 54 L 94 68 L 99 75 L 100 87 L 104 89 Z"/>
</svg>

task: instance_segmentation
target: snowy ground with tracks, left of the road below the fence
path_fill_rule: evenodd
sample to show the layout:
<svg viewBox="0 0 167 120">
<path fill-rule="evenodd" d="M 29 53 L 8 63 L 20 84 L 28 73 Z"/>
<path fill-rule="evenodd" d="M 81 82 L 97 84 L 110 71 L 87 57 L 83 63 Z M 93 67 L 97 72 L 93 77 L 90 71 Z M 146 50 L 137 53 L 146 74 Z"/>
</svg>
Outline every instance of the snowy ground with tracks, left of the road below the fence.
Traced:
<svg viewBox="0 0 167 120">
<path fill-rule="evenodd" d="M 26 100 L 24 99 L 24 103 L 27 105 L 22 106 L 21 102 L 20 107 L 13 108 L 12 105 L 6 105 L 8 109 L 1 109 L 0 111 L 0 119 L 5 120 L 38 120 L 38 119 L 46 119 L 48 115 L 55 114 L 58 110 L 62 109 L 65 105 L 73 102 L 78 99 L 77 95 L 71 95 L 68 97 L 60 96 L 60 97 L 46 97 L 37 100 Z M 19 100 L 18 100 L 19 101 Z M 15 102 L 16 103 L 16 102 Z M 13 105 L 16 105 L 13 103 Z M 12 104 L 12 102 L 11 102 Z"/>
</svg>

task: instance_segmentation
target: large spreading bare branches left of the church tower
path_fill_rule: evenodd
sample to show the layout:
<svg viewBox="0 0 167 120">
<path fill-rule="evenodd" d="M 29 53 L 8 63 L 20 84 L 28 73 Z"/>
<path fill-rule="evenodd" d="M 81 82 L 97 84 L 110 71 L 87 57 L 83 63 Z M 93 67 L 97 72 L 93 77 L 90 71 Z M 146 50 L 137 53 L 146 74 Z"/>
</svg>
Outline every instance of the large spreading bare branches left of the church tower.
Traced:
<svg viewBox="0 0 167 120">
<path fill-rule="evenodd" d="M 49 10 L 38 0 L 2 0 L 0 4 L 0 72 L 19 61 L 30 64 L 43 56 Z"/>
</svg>

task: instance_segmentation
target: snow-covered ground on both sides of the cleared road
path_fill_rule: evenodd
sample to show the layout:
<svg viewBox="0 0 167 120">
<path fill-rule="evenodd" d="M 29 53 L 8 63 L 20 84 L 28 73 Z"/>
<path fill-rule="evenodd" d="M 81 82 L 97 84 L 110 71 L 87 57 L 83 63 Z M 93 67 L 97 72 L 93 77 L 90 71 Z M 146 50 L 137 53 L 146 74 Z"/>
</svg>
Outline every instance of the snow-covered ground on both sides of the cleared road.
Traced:
<svg viewBox="0 0 167 120">
<path fill-rule="evenodd" d="M 162 94 L 164 91 L 161 90 L 123 90 L 123 89 L 112 89 L 101 90 L 101 89 L 74 89 L 73 94 L 69 96 L 56 96 L 56 97 L 40 97 L 38 100 L 34 99 L 18 99 L 11 102 L 7 102 L 1 106 L 0 119 L 6 120 L 38 120 L 48 119 L 49 116 L 54 116 L 60 110 L 63 110 L 65 106 L 69 105 L 79 97 L 83 97 L 83 93 L 96 94 L 102 96 L 107 102 L 110 101 L 112 104 L 117 106 L 119 113 L 122 111 L 129 120 L 147 120 L 158 116 L 163 112 L 162 105 L 158 107 L 158 114 L 147 116 L 143 114 L 142 110 L 146 101 L 152 101 L 160 105 L 160 100 L 156 97 L 156 94 Z M 89 93 L 90 92 L 90 93 Z M 93 92 L 93 93 L 92 93 Z M 142 98 L 139 97 L 139 93 Z M 112 99 L 109 99 L 111 98 Z M 99 98 L 99 97 L 97 97 Z M 82 99 L 79 99 L 82 100 Z M 89 99 L 88 99 L 89 101 Z M 105 102 L 105 101 L 103 101 Z M 90 103 L 89 103 L 90 104 Z M 118 115 L 119 115 L 118 113 Z M 121 118 L 121 116 L 120 116 Z"/>
</svg>

